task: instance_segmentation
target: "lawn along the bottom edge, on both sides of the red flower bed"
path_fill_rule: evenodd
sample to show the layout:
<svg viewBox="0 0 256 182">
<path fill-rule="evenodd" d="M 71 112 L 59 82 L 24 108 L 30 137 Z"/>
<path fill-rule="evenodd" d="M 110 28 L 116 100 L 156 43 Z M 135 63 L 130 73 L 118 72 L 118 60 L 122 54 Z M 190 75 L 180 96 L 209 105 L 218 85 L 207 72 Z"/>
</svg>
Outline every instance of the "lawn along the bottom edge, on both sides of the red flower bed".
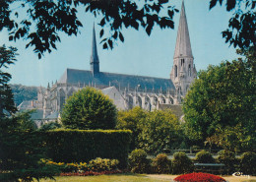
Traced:
<svg viewBox="0 0 256 182">
<path fill-rule="evenodd" d="M 170 182 L 177 175 L 155 175 L 155 174 L 112 174 L 100 176 L 62 176 L 55 177 L 57 182 Z M 233 177 L 222 176 L 228 182 L 256 182 L 256 177 Z M 54 182 L 54 180 L 40 180 L 41 182 Z"/>
</svg>

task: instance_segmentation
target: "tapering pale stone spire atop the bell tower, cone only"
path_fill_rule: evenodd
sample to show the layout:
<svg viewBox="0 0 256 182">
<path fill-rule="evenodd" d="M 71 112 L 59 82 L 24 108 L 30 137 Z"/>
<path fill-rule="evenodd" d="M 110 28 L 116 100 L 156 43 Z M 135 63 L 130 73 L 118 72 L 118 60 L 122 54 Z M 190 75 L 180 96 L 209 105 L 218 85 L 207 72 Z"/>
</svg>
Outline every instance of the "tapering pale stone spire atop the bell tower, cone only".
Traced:
<svg viewBox="0 0 256 182">
<path fill-rule="evenodd" d="M 182 5 L 181 5 L 178 33 L 177 33 L 176 46 L 175 46 L 175 52 L 174 52 L 174 58 L 178 58 L 178 57 L 193 58 L 184 1 L 182 1 Z"/>
</svg>

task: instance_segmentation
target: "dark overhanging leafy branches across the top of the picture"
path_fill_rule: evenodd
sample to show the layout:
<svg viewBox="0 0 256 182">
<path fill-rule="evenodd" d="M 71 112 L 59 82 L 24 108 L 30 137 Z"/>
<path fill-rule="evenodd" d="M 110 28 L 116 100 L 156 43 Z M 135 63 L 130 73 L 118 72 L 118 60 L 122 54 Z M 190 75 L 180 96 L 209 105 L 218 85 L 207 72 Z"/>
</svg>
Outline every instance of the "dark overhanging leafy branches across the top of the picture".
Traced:
<svg viewBox="0 0 256 182">
<path fill-rule="evenodd" d="M 218 2 L 223 5 L 224 0 L 211 0 L 210 9 Z M 255 1 L 226 0 L 225 4 L 226 11 L 234 12 L 228 29 L 223 31 L 225 41 L 234 47 L 255 47 Z M 83 27 L 78 20 L 79 6 L 83 6 L 86 13 L 101 19 L 98 25 L 101 27 L 99 36 L 102 47 L 111 49 L 114 41 L 124 41 L 123 29 L 142 28 L 149 35 L 155 26 L 173 29 L 173 16 L 178 12 L 168 0 L 1 1 L 0 31 L 8 30 L 10 41 L 28 40 L 26 47 L 32 46 L 41 58 L 46 51 L 57 48 L 56 43 L 61 41 L 59 32 L 77 35 Z M 19 9 L 26 13 L 21 13 Z"/>
</svg>

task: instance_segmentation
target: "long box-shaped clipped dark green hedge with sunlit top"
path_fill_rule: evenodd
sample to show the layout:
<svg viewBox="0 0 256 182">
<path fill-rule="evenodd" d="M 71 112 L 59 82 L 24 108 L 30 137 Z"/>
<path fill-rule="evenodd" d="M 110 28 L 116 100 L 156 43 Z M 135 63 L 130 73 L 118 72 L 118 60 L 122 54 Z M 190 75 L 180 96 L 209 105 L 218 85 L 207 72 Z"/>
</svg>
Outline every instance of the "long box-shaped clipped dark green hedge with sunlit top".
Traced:
<svg viewBox="0 0 256 182">
<path fill-rule="evenodd" d="M 57 162 L 90 161 L 96 157 L 114 158 L 127 166 L 130 130 L 51 130 L 41 133 L 47 156 Z"/>
</svg>

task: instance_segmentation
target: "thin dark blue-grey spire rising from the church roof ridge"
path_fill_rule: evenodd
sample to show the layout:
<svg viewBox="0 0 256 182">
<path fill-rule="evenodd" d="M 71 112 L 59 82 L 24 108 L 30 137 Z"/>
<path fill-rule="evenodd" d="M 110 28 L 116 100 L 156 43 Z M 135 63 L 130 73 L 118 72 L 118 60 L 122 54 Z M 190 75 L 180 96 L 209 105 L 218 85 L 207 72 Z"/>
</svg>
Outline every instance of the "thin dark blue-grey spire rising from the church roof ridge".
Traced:
<svg viewBox="0 0 256 182">
<path fill-rule="evenodd" d="M 93 44 L 92 44 L 92 55 L 91 55 L 91 71 L 93 75 L 95 76 L 96 74 L 99 73 L 99 61 L 98 61 L 98 56 L 97 56 L 97 51 L 96 51 L 96 30 L 95 30 L 95 24 L 94 24 L 94 29 L 93 29 Z"/>
</svg>

